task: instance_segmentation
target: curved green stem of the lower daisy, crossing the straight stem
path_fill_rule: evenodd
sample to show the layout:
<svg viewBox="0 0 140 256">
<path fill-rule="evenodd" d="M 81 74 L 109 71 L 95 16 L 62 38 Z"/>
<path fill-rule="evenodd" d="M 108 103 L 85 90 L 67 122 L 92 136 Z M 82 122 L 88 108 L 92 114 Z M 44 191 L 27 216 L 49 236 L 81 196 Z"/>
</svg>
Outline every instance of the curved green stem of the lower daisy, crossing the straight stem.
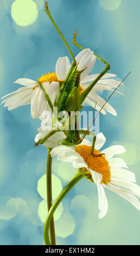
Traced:
<svg viewBox="0 0 140 256">
<path fill-rule="evenodd" d="M 66 196 L 66 194 L 82 178 L 83 178 L 82 174 L 78 171 L 78 173 L 73 177 L 73 179 L 68 182 L 66 187 L 63 188 L 63 190 L 59 194 L 58 198 L 55 200 L 54 204 L 50 208 L 50 210 L 48 212 L 48 216 L 47 216 L 46 222 L 44 223 L 44 243 L 45 243 L 45 245 L 50 245 L 50 241 L 49 241 L 49 224 L 50 224 L 50 221 L 52 220 L 52 216 L 53 216 L 56 208 L 59 206 L 59 204 L 61 203 L 62 199 Z"/>
</svg>

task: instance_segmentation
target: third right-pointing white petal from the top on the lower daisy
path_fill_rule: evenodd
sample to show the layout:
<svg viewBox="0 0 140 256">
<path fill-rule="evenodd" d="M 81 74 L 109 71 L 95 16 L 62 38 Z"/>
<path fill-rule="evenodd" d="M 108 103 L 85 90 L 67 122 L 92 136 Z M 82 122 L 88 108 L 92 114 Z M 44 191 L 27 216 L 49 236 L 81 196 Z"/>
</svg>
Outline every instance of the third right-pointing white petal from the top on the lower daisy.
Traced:
<svg viewBox="0 0 140 256">
<path fill-rule="evenodd" d="M 111 168 L 111 177 L 136 182 L 135 174 L 122 168 Z"/>
</svg>

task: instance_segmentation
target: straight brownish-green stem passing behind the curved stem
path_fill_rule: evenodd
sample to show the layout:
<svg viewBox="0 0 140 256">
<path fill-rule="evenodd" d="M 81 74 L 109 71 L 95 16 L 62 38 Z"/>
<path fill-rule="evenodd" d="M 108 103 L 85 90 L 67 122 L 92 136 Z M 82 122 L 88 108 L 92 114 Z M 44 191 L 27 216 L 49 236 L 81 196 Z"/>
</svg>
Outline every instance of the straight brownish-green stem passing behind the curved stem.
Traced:
<svg viewBox="0 0 140 256">
<path fill-rule="evenodd" d="M 50 156 L 51 148 L 48 149 L 47 154 L 47 172 L 46 172 L 46 181 L 47 181 L 47 205 L 48 205 L 48 211 L 52 206 L 52 157 Z M 55 229 L 54 229 L 54 218 L 53 215 L 50 219 L 50 225 L 49 225 L 49 231 L 50 231 L 50 242 L 51 245 L 55 245 Z"/>
</svg>

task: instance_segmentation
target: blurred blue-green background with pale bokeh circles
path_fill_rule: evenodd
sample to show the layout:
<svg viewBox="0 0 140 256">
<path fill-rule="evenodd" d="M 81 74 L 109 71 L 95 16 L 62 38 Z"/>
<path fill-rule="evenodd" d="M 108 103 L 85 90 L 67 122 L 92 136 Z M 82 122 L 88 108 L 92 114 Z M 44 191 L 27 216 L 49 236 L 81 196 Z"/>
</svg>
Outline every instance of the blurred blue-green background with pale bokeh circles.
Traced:
<svg viewBox="0 0 140 256">
<path fill-rule="evenodd" d="M 14 2 L 18 2 L 17 7 L 12 5 Z M 44 13 L 43 1 L 1 0 L 0 3 L 0 89 L 3 96 L 18 88 L 18 84 L 14 84 L 18 78 L 37 80 L 42 74 L 55 71 L 59 57 L 71 57 Z M 124 96 L 116 94 L 110 100 L 117 117 L 100 115 L 100 131 L 107 138 L 105 148 L 116 143 L 124 145 L 126 153 L 122 158 L 140 183 L 139 0 L 48 0 L 48 4 L 74 55 L 79 49 L 72 45 L 72 38 L 74 29 L 78 29 L 79 44 L 107 60 L 111 64 L 110 72 L 117 74 L 120 80 L 132 71 L 120 88 Z M 25 20 L 29 23 L 27 26 Z M 97 60 L 91 74 L 103 68 Z M 107 99 L 110 93 L 100 95 Z M 30 116 L 29 105 L 13 111 L 1 106 L 1 245 L 43 245 L 41 216 L 44 211 L 38 210 L 43 198 L 40 189 L 37 190 L 37 182 L 46 172 L 47 150 L 41 146 L 33 148 L 39 126 L 40 121 Z M 64 187 L 76 172 L 71 164 L 53 160 L 53 174 L 58 178 L 56 193 L 60 184 Z M 56 243 L 139 245 L 138 210 L 113 192 L 106 191 L 106 196 L 109 210 L 99 220 L 96 186 L 82 179 L 63 200 L 63 211 L 58 213 L 55 222 Z"/>
</svg>

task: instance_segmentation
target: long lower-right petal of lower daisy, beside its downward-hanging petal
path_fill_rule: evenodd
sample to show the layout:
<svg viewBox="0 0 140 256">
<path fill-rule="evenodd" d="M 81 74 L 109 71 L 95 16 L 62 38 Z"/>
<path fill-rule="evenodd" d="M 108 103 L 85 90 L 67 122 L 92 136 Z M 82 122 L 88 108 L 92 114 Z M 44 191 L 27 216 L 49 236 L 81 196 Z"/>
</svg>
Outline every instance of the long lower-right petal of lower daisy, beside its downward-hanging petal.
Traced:
<svg viewBox="0 0 140 256">
<path fill-rule="evenodd" d="M 116 187 L 112 184 L 104 184 L 104 187 L 108 188 L 109 190 L 113 191 L 114 193 L 119 194 L 119 196 L 128 200 L 132 205 L 134 205 L 138 210 L 140 210 L 140 202 L 139 200 L 131 193 L 131 191 L 126 191 L 123 188 Z"/>
</svg>

